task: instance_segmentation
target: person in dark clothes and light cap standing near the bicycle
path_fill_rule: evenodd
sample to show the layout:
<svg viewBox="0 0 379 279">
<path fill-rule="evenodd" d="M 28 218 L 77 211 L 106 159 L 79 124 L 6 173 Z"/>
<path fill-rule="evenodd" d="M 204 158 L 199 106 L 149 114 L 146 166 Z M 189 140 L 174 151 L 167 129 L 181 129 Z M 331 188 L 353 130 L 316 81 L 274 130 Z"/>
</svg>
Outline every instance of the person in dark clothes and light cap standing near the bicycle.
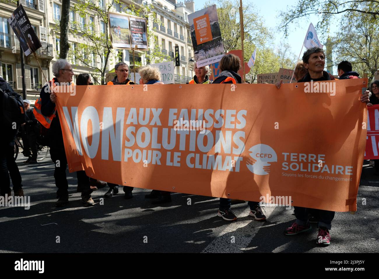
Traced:
<svg viewBox="0 0 379 279">
<path fill-rule="evenodd" d="M 24 147 L 24 156 L 28 159 L 25 164 L 35 164 L 37 162 L 37 136 L 39 132 L 39 123 L 34 116 L 33 109 L 30 107 L 30 101 L 24 100 L 25 124 L 22 125 L 22 142 Z M 30 153 L 30 149 L 31 153 Z"/>
</svg>

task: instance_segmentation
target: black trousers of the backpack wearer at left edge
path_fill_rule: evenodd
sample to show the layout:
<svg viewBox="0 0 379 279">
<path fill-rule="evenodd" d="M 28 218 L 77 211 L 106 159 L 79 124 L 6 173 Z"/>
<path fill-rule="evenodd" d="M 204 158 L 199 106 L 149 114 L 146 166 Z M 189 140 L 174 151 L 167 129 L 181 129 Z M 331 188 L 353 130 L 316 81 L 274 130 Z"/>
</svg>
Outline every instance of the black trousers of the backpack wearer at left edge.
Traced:
<svg viewBox="0 0 379 279">
<path fill-rule="evenodd" d="M 11 180 L 13 184 L 13 191 L 22 188 L 22 178 L 20 175 L 19 167 L 14 161 L 14 145 L 3 144 L 0 148 L 0 195 L 7 194 L 11 188 Z M 9 179 L 11 176 L 11 180 Z"/>
</svg>

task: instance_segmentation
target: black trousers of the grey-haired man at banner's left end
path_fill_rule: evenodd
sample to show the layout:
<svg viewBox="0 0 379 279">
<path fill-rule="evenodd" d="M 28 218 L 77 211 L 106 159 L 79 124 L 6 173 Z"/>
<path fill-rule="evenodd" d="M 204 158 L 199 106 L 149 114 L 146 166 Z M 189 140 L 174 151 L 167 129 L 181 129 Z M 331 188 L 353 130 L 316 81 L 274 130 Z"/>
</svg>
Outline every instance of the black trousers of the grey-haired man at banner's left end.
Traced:
<svg viewBox="0 0 379 279">
<path fill-rule="evenodd" d="M 54 179 L 55 186 L 58 188 L 56 194 L 58 198 L 68 198 L 68 182 L 66 177 L 67 158 L 63 146 L 50 145 L 50 157 L 55 164 Z M 92 190 L 89 186 L 89 177 L 84 171 L 77 172 L 78 185 L 81 185 L 81 195 L 91 195 Z"/>
</svg>

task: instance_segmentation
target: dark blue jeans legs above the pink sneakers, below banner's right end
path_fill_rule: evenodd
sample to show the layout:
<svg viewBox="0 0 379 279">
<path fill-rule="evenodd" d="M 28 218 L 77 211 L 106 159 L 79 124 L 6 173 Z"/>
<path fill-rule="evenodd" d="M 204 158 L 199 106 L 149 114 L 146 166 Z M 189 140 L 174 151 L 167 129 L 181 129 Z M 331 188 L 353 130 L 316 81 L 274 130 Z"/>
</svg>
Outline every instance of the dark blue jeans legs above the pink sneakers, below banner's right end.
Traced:
<svg viewBox="0 0 379 279">
<path fill-rule="evenodd" d="M 295 208 L 295 217 L 296 224 L 301 226 L 306 226 L 309 223 L 308 213 L 310 208 L 294 206 Z M 332 228 L 332 220 L 334 218 L 334 211 L 313 209 L 313 214 L 318 216 L 318 227 L 326 227 L 328 230 Z"/>
</svg>

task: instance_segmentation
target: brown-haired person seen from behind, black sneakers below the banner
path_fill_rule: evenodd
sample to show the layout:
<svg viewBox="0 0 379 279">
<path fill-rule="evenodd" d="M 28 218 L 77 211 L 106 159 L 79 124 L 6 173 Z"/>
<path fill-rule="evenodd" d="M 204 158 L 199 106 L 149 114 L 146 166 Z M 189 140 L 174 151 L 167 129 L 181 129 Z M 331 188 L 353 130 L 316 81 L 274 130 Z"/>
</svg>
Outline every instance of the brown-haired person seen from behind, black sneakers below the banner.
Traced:
<svg viewBox="0 0 379 279">
<path fill-rule="evenodd" d="M 221 58 L 220 61 L 220 71 L 221 73 L 213 82 L 214 84 L 240 84 L 242 83 L 241 77 L 237 74 L 238 70 L 241 68 L 240 58 L 234 54 L 226 54 Z M 255 220 L 265 221 L 266 216 L 262 212 L 262 208 L 260 207 L 259 202 L 247 202 L 250 206 L 249 215 L 254 217 Z M 222 219 L 227 221 L 235 221 L 237 217 L 230 210 L 230 206 L 232 205 L 231 199 L 220 198 L 220 205 L 217 215 L 222 217 Z"/>
</svg>

